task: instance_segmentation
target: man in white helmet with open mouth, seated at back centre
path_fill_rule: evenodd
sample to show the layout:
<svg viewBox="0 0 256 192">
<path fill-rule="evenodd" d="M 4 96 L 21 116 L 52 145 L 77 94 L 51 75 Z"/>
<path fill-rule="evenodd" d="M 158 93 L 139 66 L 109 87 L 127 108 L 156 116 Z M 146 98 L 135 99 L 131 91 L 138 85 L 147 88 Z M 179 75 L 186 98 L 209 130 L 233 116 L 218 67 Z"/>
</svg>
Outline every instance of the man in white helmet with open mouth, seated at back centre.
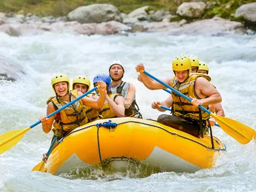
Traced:
<svg viewBox="0 0 256 192">
<path fill-rule="evenodd" d="M 108 69 L 109 75 L 112 79 L 111 92 L 113 94 L 122 94 L 125 98 L 125 116 L 142 119 L 139 113 L 139 106 L 135 101 L 135 86 L 129 82 L 123 82 L 122 78 L 125 73 L 123 63 L 119 60 L 114 60 Z"/>
</svg>

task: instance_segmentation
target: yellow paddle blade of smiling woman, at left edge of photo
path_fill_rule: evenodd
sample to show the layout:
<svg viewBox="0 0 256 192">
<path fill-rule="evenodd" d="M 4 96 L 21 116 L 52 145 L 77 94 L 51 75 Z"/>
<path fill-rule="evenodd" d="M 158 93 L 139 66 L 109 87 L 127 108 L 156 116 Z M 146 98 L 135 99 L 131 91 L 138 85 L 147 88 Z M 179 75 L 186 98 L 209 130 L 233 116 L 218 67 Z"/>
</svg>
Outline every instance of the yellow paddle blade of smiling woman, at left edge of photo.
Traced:
<svg viewBox="0 0 256 192">
<path fill-rule="evenodd" d="M 0 154 L 3 154 L 15 146 L 28 130 L 30 130 L 30 127 L 27 127 L 26 129 L 8 131 L 7 133 L 0 135 Z"/>
</svg>

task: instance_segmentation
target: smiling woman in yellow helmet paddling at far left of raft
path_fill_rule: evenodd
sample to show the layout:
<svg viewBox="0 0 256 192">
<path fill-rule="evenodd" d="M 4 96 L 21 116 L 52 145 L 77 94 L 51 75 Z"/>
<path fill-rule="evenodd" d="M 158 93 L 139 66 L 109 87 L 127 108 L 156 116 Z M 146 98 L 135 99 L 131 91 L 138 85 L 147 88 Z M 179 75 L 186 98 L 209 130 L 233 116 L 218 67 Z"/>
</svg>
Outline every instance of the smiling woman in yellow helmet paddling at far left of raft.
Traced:
<svg viewBox="0 0 256 192">
<path fill-rule="evenodd" d="M 82 94 L 81 92 L 77 92 L 77 90 L 69 91 L 69 77 L 64 74 L 55 75 L 51 80 L 51 84 L 56 96 L 49 98 L 47 101 L 48 105 L 46 115 L 50 115 L 55 110 L 65 106 L 65 104 L 75 100 L 75 98 Z M 42 122 L 42 130 L 44 133 L 49 133 L 52 130 L 57 137 L 57 140 L 59 140 L 73 131 L 73 129 L 88 123 L 85 106 L 101 108 L 104 104 L 106 84 L 100 81 L 98 82 L 98 85 L 100 85 L 98 88 L 100 96 L 97 98 L 97 100 L 84 97 L 81 100 L 74 102 L 70 106 L 67 106 L 67 108 L 61 110 L 53 117 L 40 117 L 40 121 Z"/>
</svg>

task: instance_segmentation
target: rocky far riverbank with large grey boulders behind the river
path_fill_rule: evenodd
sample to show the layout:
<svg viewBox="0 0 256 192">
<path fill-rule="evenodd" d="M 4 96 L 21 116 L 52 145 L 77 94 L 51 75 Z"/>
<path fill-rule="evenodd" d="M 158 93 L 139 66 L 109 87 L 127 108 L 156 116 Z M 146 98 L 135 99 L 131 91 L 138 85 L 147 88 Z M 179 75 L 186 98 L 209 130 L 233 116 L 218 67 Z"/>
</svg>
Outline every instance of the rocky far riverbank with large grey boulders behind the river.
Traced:
<svg viewBox="0 0 256 192">
<path fill-rule="evenodd" d="M 129 32 L 166 32 L 168 34 L 254 34 L 256 3 L 241 5 L 234 13 L 237 21 L 220 18 L 203 19 L 212 5 L 203 1 L 182 3 L 176 14 L 150 10 L 149 6 L 121 13 L 110 4 L 93 4 L 77 7 L 61 18 L 39 18 L 32 13 L 0 13 L 0 32 L 10 36 L 27 36 L 44 32 L 68 32 L 73 34 L 127 34 Z M 227 7 L 228 9 L 228 7 Z"/>
</svg>

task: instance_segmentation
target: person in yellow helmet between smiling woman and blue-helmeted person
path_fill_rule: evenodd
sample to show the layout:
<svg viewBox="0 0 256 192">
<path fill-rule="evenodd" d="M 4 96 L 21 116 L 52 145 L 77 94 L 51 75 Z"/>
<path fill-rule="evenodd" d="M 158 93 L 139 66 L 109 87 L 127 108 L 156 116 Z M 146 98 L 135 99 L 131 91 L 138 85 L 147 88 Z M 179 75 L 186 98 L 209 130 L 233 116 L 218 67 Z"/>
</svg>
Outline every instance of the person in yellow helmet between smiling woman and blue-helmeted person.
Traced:
<svg viewBox="0 0 256 192">
<path fill-rule="evenodd" d="M 91 82 L 90 79 L 84 75 L 79 75 L 73 79 L 72 88 L 73 90 L 77 90 L 78 92 L 82 92 L 82 94 L 88 92 L 90 90 Z M 93 98 L 95 93 L 88 94 L 89 98 Z M 88 119 L 88 123 L 92 121 L 96 121 L 101 119 L 101 116 L 97 109 L 91 108 L 90 106 L 84 107 L 86 111 L 86 117 Z"/>
</svg>

